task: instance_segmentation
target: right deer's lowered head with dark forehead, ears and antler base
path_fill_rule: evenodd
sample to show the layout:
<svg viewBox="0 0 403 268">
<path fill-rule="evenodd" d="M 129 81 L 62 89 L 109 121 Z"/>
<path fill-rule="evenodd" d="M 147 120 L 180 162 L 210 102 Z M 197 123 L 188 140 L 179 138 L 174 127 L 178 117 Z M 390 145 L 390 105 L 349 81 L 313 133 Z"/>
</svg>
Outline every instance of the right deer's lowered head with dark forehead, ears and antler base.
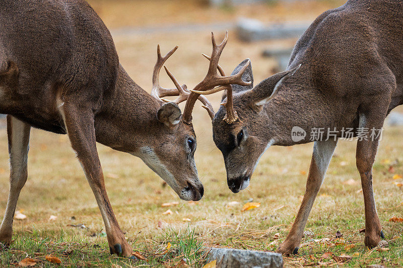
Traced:
<svg viewBox="0 0 403 268">
<path fill-rule="evenodd" d="M 210 57 L 204 56 L 211 61 Z M 225 76 L 220 65 L 216 67 Z M 253 87 L 250 60 L 245 59 L 231 74 L 241 73 L 240 79 L 244 84 L 228 83 L 209 91 L 196 92 L 207 95 L 225 91 L 222 107 L 213 118 L 213 139 L 224 156 L 227 183 L 232 192 L 238 193 L 249 186 L 260 156 L 276 142 L 276 130 L 270 130 L 272 116 L 263 107 L 276 97 L 283 82 L 298 68 L 277 73 Z"/>
</svg>

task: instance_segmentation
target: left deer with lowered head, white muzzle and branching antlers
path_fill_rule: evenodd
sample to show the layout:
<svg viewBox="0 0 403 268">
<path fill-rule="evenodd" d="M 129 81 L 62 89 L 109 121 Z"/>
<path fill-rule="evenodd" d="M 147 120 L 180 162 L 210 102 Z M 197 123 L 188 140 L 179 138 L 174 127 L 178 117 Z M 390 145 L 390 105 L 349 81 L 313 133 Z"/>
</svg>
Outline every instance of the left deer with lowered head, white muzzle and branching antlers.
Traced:
<svg viewBox="0 0 403 268">
<path fill-rule="evenodd" d="M 10 155 L 10 192 L 0 242 L 12 242 L 34 127 L 68 135 L 101 212 L 110 253 L 135 258 L 109 202 L 96 143 L 141 158 L 180 199 L 203 197 L 194 161 L 192 109 L 186 103 L 182 115 L 178 106 L 189 102 L 191 93 L 164 65 L 177 46 L 165 56 L 157 46 L 149 94 L 119 64 L 109 30 L 84 0 L 5 0 L 0 10 L 0 113 L 7 114 Z M 175 88 L 160 86 L 163 65 Z M 241 72 L 220 77 L 215 84 L 223 79 L 247 84 L 241 77 Z M 164 99 L 168 96 L 178 98 L 171 102 Z M 214 114 L 206 97 L 195 100 Z"/>
</svg>

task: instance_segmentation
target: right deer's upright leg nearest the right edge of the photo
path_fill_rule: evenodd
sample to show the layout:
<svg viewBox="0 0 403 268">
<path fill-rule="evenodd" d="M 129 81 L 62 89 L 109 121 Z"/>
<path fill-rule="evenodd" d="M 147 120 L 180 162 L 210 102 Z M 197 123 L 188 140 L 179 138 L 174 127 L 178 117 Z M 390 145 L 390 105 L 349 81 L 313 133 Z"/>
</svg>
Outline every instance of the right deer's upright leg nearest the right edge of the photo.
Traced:
<svg viewBox="0 0 403 268">
<path fill-rule="evenodd" d="M 382 124 L 372 124 L 370 117 L 360 116 L 360 127 L 368 129 L 381 129 L 382 120 L 376 120 Z M 357 141 L 356 161 L 357 169 L 361 176 L 362 193 L 364 195 L 365 207 L 365 238 L 364 243 L 367 247 L 373 248 L 378 245 L 381 238 L 384 238 L 382 226 L 376 211 L 374 192 L 372 189 L 372 165 L 375 161 L 376 151 L 378 149 L 379 138 Z"/>
</svg>

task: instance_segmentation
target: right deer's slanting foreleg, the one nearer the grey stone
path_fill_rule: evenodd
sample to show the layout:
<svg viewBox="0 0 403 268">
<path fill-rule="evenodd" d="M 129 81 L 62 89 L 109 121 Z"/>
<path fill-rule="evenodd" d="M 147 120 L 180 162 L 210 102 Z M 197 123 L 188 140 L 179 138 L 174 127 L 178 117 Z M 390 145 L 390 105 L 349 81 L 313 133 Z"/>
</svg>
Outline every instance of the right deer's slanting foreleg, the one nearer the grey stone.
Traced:
<svg viewBox="0 0 403 268">
<path fill-rule="evenodd" d="M 336 145 L 337 141 L 334 140 L 315 141 L 304 198 L 302 199 L 294 224 L 286 240 L 277 249 L 277 252 L 282 254 L 298 253 L 305 224 L 308 220 L 316 195 L 322 185 L 324 174 L 326 173 Z"/>
</svg>

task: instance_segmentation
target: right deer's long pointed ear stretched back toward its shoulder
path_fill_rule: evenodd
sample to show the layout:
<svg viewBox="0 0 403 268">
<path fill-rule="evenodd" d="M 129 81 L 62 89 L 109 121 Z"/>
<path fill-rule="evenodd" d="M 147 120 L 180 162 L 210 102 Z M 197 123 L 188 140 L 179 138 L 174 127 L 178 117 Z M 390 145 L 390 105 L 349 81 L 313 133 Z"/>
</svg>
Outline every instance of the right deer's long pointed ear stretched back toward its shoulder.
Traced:
<svg viewBox="0 0 403 268">
<path fill-rule="evenodd" d="M 276 73 L 257 84 L 251 91 L 247 92 L 247 99 L 257 107 L 262 107 L 266 103 L 270 102 L 278 94 L 278 88 L 288 78 L 294 75 L 294 73 L 301 67 L 295 67 L 291 70 Z"/>
</svg>

